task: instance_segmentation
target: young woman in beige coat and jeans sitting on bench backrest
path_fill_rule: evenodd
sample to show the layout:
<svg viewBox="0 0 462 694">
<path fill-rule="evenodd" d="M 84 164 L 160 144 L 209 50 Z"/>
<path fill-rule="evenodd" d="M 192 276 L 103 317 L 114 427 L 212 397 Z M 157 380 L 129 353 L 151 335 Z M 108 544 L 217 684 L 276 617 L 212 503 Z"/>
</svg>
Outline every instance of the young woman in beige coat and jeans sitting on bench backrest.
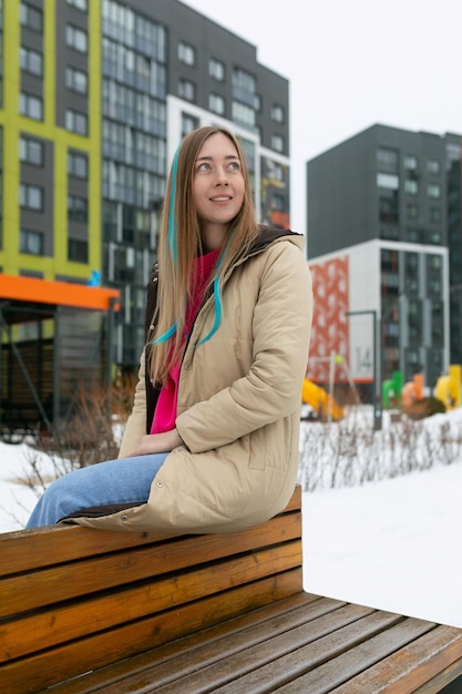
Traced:
<svg viewBox="0 0 462 694">
<path fill-rule="evenodd" d="M 227 532 L 287 504 L 312 295 L 302 237 L 259 227 L 238 140 L 187 135 L 172 164 L 146 346 L 120 459 L 53 482 L 28 527 Z"/>
</svg>

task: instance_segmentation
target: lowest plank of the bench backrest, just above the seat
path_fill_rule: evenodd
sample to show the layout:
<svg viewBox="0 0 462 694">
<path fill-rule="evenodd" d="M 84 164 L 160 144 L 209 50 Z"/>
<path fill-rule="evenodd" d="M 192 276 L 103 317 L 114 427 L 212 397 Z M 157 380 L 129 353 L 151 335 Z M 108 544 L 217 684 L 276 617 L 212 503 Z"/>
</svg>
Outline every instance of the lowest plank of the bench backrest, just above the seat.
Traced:
<svg viewBox="0 0 462 694">
<path fill-rule="evenodd" d="M 153 614 L 144 620 L 133 621 L 116 630 L 89 635 L 55 649 L 41 651 L 25 659 L 18 659 L 0 666 L 2 694 L 35 694 L 70 677 L 117 663 L 123 659 L 143 651 L 168 644 L 181 636 L 193 634 L 192 640 L 201 639 L 201 630 L 237 615 L 251 619 L 254 610 L 269 605 L 277 610 L 278 601 L 288 596 L 290 600 L 312 600 L 317 596 L 300 592 L 301 569 L 297 568 L 276 576 L 246 584 L 227 593 L 218 593 L 175 608 L 174 610 Z M 283 602 L 281 602 L 283 605 Z M 285 608 L 285 605 L 284 605 Z M 265 619 L 265 614 L 260 616 Z M 1 634 L 0 634 L 1 636 Z M 175 647 L 175 644 L 172 644 Z M 63 685 L 63 694 L 72 683 Z M 80 692 L 81 678 L 76 684 Z"/>
</svg>

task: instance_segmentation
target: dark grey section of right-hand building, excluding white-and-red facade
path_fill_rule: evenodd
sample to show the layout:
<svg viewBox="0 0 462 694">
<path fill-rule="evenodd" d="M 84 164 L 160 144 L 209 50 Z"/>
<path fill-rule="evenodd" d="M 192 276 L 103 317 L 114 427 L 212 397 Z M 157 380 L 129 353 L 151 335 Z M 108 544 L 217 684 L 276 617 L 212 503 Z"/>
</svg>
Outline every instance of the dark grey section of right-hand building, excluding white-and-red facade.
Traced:
<svg viewBox="0 0 462 694">
<path fill-rule="evenodd" d="M 307 200 L 310 261 L 380 242 L 382 378 L 461 364 L 461 135 L 372 125 L 308 162 Z"/>
</svg>

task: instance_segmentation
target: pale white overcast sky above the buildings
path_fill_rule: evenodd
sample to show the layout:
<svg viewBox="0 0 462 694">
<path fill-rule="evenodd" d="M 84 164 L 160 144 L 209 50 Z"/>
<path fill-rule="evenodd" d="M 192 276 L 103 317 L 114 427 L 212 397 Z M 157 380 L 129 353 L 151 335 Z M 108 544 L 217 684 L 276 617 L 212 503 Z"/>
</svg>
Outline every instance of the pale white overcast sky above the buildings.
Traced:
<svg viewBox="0 0 462 694">
<path fill-rule="evenodd" d="M 291 226 L 306 162 L 383 123 L 462 133 L 461 0 L 183 0 L 290 83 Z"/>
</svg>

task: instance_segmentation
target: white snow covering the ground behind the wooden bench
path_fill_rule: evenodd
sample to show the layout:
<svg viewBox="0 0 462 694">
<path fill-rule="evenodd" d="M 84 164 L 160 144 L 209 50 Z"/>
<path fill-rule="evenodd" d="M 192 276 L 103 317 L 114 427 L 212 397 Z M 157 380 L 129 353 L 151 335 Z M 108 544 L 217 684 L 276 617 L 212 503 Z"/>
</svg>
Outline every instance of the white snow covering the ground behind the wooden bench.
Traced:
<svg viewBox="0 0 462 694">
<path fill-rule="evenodd" d="M 458 417 L 462 421 L 462 410 Z M 28 451 L 24 443 L 0 442 L 0 532 L 21 529 L 35 504 L 19 482 L 28 474 Z M 47 471 L 51 461 L 41 460 Z M 462 460 L 304 492 L 305 589 L 462 627 L 461 490 Z"/>
</svg>

